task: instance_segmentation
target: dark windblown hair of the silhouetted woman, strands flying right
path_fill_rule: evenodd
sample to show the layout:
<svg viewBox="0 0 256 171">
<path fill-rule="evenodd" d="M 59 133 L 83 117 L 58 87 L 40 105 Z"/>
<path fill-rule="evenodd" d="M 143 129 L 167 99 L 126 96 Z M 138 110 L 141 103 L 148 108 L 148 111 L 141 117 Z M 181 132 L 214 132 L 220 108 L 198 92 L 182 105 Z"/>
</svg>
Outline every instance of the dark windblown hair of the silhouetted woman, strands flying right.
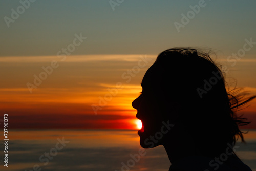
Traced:
<svg viewBox="0 0 256 171">
<path fill-rule="evenodd" d="M 160 53 L 154 65 L 161 68 L 164 105 L 169 101 L 179 105 L 179 121 L 194 135 L 199 153 L 218 156 L 239 137 L 245 142 L 239 126 L 250 122 L 237 111 L 256 96 L 245 98 L 238 88 L 227 92 L 225 73 L 208 53 L 172 48 Z"/>
</svg>

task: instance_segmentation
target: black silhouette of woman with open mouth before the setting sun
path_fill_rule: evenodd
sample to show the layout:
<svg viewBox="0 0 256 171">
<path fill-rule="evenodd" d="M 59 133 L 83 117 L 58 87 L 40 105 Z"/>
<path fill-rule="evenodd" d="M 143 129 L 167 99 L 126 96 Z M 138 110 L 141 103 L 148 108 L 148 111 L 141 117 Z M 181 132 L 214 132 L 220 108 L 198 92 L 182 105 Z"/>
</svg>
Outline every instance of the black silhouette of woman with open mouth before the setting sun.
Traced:
<svg viewBox="0 0 256 171">
<path fill-rule="evenodd" d="M 169 170 L 251 170 L 234 153 L 250 122 L 234 110 L 241 101 L 227 93 L 221 70 L 209 55 L 190 48 L 163 51 L 145 73 L 141 95 L 132 103 L 143 127 L 140 145 L 163 145 Z"/>
</svg>

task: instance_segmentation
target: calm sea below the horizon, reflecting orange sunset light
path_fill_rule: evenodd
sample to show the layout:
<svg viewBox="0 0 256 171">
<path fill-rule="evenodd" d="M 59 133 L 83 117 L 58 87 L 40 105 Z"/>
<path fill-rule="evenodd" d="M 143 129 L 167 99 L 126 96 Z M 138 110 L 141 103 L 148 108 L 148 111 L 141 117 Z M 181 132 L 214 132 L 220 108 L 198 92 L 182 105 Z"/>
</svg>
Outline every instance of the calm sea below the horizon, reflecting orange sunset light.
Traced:
<svg viewBox="0 0 256 171">
<path fill-rule="evenodd" d="M 238 143 L 237 154 L 256 171 L 256 130 Z M 3 140 L 2 140 L 3 141 Z M 12 130 L 8 168 L 1 147 L 0 170 L 168 170 L 162 146 L 142 151 L 137 131 Z"/>
</svg>

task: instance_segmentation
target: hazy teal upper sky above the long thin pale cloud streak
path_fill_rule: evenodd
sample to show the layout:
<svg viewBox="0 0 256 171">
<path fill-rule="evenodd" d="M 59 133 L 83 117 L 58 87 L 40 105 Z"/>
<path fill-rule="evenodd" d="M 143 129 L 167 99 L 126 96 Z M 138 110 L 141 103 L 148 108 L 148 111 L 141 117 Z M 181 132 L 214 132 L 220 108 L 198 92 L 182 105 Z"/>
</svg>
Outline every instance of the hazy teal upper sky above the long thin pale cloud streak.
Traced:
<svg viewBox="0 0 256 171">
<path fill-rule="evenodd" d="M 253 0 L 205 0 L 205 7 L 178 32 L 174 22 L 181 23 L 181 14 L 198 3 L 124 0 L 113 11 L 109 0 L 37 0 L 8 28 L 4 17 L 11 18 L 11 9 L 21 4 L 1 1 L 0 56 L 56 55 L 80 33 L 87 39 L 73 55 L 158 54 L 177 46 L 208 47 L 230 55 L 243 48 L 245 38 L 256 41 Z M 256 54 L 256 45 L 246 54 Z"/>
</svg>

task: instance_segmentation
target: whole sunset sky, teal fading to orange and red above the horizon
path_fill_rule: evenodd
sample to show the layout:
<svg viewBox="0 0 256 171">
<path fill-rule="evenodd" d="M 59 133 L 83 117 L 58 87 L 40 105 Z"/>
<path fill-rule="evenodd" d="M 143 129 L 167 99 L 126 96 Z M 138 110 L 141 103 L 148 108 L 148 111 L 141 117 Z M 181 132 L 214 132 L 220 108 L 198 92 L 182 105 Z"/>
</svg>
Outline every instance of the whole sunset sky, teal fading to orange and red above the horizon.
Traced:
<svg viewBox="0 0 256 171">
<path fill-rule="evenodd" d="M 230 87 L 256 94 L 255 1 L 206 0 L 196 12 L 200 1 L 21 2 L 0 2 L 0 115 L 11 127 L 136 129 L 143 75 L 173 47 L 210 49 Z M 256 129 L 256 100 L 241 112 Z"/>
</svg>

